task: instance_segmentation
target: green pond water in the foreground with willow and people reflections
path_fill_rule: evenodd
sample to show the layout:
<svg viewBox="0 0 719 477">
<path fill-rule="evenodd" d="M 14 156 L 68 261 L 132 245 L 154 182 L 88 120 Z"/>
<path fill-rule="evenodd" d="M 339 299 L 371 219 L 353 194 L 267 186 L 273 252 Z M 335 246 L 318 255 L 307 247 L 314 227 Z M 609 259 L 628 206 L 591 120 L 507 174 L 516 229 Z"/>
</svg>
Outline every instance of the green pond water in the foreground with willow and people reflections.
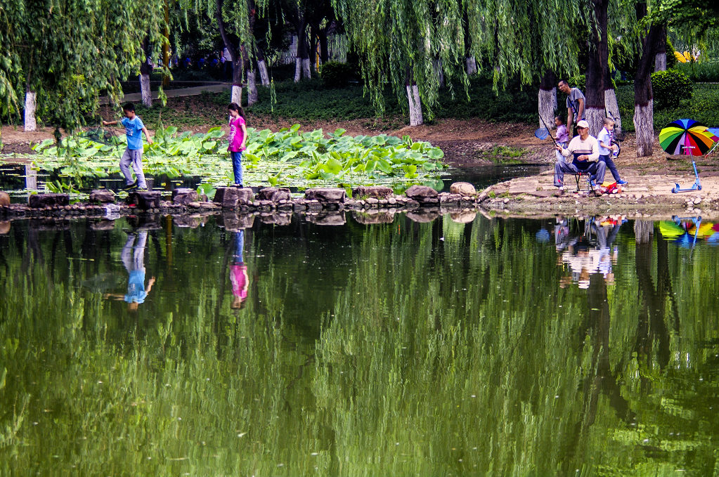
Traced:
<svg viewBox="0 0 719 477">
<path fill-rule="evenodd" d="M 1 475 L 719 473 L 713 224 L 221 224 L 0 223 Z"/>
</svg>

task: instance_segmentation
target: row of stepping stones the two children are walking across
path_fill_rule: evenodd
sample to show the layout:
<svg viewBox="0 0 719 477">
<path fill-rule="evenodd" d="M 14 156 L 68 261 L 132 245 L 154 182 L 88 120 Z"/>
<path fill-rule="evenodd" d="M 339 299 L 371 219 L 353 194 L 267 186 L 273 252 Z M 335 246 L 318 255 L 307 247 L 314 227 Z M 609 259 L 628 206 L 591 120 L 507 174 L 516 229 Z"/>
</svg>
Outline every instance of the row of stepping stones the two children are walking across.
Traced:
<svg viewBox="0 0 719 477">
<path fill-rule="evenodd" d="M 240 217 L 260 216 L 271 223 L 289 223 L 293 213 L 303 213 L 316 223 L 334 225 L 344 223 L 344 212 L 351 211 L 360 223 L 388 223 L 398 212 L 420 222 L 432 221 L 445 213 L 469 221 L 486 199 L 486 194 L 478 194 L 467 182 L 453 184 L 449 193 L 437 193 L 423 185 L 413 185 L 403 195 L 395 195 L 390 187 L 355 187 L 352 198 L 339 188 L 312 188 L 303 196 L 293 197 L 286 187 L 265 187 L 257 193 L 249 187 L 219 187 L 211 201 L 192 189 L 175 189 L 171 195 L 159 191 L 132 192 L 123 202 L 118 202 L 111 190 L 93 190 L 87 202 L 70 203 L 67 194 L 34 194 L 27 204 L 11 204 L 9 196 L 0 193 L 0 220 L 83 217 L 113 220 L 138 214 L 183 216 L 229 212 Z M 471 214 L 460 219 L 462 213 Z"/>
</svg>

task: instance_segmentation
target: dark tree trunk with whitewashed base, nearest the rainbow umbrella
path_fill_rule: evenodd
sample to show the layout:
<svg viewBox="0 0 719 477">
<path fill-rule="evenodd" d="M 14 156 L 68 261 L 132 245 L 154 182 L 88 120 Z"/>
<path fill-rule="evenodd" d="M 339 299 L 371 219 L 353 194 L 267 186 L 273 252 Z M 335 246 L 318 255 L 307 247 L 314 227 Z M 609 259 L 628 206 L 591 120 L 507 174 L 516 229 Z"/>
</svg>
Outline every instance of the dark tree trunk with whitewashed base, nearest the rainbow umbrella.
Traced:
<svg viewBox="0 0 719 477">
<path fill-rule="evenodd" d="M 646 4 L 637 7 L 637 19 L 646 16 Z M 651 156 L 654 148 L 654 93 L 651 91 L 651 63 L 656 50 L 656 37 L 662 27 L 652 24 L 642 39 L 642 52 L 634 77 L 634 129 L 637 157 Z"/>
</svg>

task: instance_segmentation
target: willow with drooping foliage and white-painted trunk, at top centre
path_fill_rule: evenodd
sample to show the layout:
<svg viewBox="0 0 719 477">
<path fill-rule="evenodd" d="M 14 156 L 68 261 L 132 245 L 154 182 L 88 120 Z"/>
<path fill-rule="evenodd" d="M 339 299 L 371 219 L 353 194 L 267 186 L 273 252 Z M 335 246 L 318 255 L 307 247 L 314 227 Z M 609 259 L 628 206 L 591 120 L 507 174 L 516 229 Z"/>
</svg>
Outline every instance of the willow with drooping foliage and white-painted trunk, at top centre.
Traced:
<svg viewBox="0 0 719 477">
<path fill-rule="evenodd" d="M 349 41 L 359 53 L 365 88 L 384 111 L 385 85 L 402 102 L 410 125 L 423 124 L 439 100 L 438 69 L 451 86 L 464 73 L 462 9 L 457 0 L 334 0 Z"/>
</svg>

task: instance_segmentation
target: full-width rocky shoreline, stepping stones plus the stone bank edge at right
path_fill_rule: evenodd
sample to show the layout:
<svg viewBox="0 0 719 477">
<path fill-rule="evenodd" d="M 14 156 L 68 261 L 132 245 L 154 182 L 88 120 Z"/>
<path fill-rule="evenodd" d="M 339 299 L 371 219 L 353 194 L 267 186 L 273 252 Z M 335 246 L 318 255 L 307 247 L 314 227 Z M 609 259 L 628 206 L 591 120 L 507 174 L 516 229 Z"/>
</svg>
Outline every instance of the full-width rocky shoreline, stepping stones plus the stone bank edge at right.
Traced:
<svg viewBox="0 0 719 477">
<path fill-rule="evenodd" d="M 516 182 L 515 182 L 516 181 Z M 521 186 L 521 187 L 520 187 Z M 107 221 L 142 214 L 197 216 L 260 216 L 267 223 L 289 223 L 293 213 L 326 225 L 345 222 L 352 212 L 360 223 L 389 223 L 395 213 L 407 213 L 418 222 L 429 222 L 444 214 L 469 221 L 477 212 L 485 216 L 546 218 L 550 216 L 608 216 L 668 218 L 674 215 L 719 216 L 719 196 L 702 194 L 655 195 L 651 191 L 606 195 L 601 198 L 567 194 L 554 198 L 551 191 L 525 180 L 500 182 L 477 192 L 467 182 L 455 182 L 449 193 L 413 185 L 403 195 L 390 187 L 355 187 L 352 196 L 342 188 L 311 188 L 292 195 L 287 187 L 264 187 L 256 193 L 249 187 L 219 187 L 213 200 L 196 190 L 178 188 L 168 192 L 132 192 L 122 201 L 111 190 L 93 190 L 86 202 L 70 202 L 67 194 L 33 194 L 27 204 L 11 204 L 0 193 L 0 221 L 19 218 L 98 218 Z M 229 214 L 229 215 L 228 215 Z M 239 219 L 238 219 L 239 220 Z"/>
</svg>

